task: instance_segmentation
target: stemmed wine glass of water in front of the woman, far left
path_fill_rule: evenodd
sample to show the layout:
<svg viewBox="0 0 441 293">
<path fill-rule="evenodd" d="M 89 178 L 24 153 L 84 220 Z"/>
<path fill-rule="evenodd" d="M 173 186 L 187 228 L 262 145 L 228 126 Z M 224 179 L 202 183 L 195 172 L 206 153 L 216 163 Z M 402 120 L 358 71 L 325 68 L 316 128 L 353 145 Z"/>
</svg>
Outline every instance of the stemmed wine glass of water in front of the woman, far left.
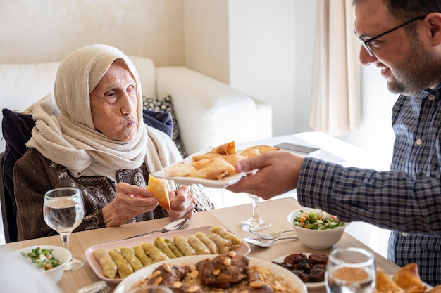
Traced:
<svg viewBox="0 0 441 293">
<path fill-rule="evenodd" d="M 44 221 L 61 235 L 63 247 L 69 250 L 69 237 L 85 216 L 81 192 L 77 188 L 56 188 L 44 195 Z M 76 271 L 85 261 L 72 257 L 64 271 Z"/>
</svg>

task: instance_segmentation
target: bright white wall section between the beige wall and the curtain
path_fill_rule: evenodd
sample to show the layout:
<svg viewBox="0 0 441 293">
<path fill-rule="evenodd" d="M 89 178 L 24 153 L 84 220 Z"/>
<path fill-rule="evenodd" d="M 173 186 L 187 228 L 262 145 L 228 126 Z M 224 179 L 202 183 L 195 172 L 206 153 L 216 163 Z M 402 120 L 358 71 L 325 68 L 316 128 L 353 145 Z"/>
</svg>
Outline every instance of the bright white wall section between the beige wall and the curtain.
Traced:
<svg viewBox="0 0 441 293">
<path fill-rule="evenodd" d="M 273 134 L 294 132 L 292 0 L 230 1 L 230 84 L 273 108 Z"/>
</svg>

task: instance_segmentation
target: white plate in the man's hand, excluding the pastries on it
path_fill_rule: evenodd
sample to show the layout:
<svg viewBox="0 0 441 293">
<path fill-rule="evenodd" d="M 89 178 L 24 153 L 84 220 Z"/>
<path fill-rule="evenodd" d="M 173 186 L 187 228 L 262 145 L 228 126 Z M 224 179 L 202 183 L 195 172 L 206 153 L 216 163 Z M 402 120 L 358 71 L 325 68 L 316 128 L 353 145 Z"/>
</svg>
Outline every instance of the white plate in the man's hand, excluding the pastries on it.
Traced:
<svg viewBox="0 0 441 293">
<path fill-rule="evenodd" d="M 209 150 L 211 150 L 211 149 L 202 150 L 201 152 L 196 152 L 193 155 L 186 157 L 181 162 L 190 163 L 190 162 L 192 162 L 193 156 L 205 154 L 206 152 L 209 152 Z M 240 150 L 237 150 L 237 152 L 240 152 Z M 180 162 L 178 162 L 176 164 L 179 164 L 179 163 Z M 175 165 L 175 164 L 173 164 L 173 165 Z M 170 165 L 166 168 L 169 168 L 173 165 Z M 242 173 L 238 173 L 238 174 L 234 174 L 234 175 L 225 176 L 224 178 L 221 178 L 219 180 L 210 180 L 210 179 L 204 179 L 204 178 L 193 178 L 193 177 L 185 177 L 185 176 L 170 176 L 166 173 L 166 171 L 165 171 L 166 168 L 162 169 L 161 171 L 157 171 L 154 174 L 151 174 L 151 176 L 154 176 L 155 178 L 173 180 L 173 181 L 175 181 L 176 184 L 181 184 L 181 185 L 201 184 L 201 185 L 204 185 L 205 187 L 225 188 L 227 186 L 230 186 L 232 184 L 237 183 L 238 181 L 240 181 L 240 178 L 242 178 L 245 175 L 245 173 L 242 172 Z"/>
</svg>

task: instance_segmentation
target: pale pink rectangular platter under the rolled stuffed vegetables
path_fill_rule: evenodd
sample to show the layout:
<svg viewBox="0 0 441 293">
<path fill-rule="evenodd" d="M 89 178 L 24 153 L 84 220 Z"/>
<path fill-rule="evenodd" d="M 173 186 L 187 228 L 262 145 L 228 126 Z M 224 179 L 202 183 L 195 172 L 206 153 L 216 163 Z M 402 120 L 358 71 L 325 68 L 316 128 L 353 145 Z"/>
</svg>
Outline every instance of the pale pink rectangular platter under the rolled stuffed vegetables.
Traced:
<svg viewBox="0 0 441 293">
<path fill-rule="evenodd" d="M 95 259 L 94 255 L 92 254 L 92 252 L 95 249 L 104 248 L 106 250 L 111 250 L 111 249 L 118 249 L 119 250 L 119 247 L 135 247 L 137 245 L 140 245 L 142 242 L 153 243 L 156 237 L 163 237 L 163 238 L 168 238 L 170 240 L 173 240 L 173 237 L 180 235 L 180 236 L 184 237 L 185 239 L 187 239 L 190 235 L 194 235 L 197 232 L 209 233 L 211 227 L 212 226 L 204 226 L 204 227 L 193 228 L 193 229 L 188 229 L 188 230 L 178 230 L 178 231 L 166 232 L 166 233 L 155 233 L 155 234 L 146 235 L 146 236 L 142 236 L 142 237 L 136 237 L 136 238 L 119 240 L 119 241 L 108 242 L 108 243 L 102 243 L 102 244 L 94 245 L 94 246 L 86 249 L 85 255 L 86 255 L 87 262 L 92 267 L 92 270 L 94 271 L 95 274 L 97 274 L 97 276 L 101 280 L 104 280 L 106 282 L 110 282 L 113 284 L 118 284 L 123 279 L 120 279 L 120 278 L 111 279 L 111 278 L 107 278 L 103 275 L 103 271 L 101 270 L 101 266 L 99 266 L 98 261 Z M 240 247 L 236 249 L 236 252 L 238 254 L 249 254 L 250 251 L 251 251 L 251 249 L 249 248 L 247 243 L 245 243 L 244 241 L 242 241 L 242 244 L 240 245 Z"/>
</svg>

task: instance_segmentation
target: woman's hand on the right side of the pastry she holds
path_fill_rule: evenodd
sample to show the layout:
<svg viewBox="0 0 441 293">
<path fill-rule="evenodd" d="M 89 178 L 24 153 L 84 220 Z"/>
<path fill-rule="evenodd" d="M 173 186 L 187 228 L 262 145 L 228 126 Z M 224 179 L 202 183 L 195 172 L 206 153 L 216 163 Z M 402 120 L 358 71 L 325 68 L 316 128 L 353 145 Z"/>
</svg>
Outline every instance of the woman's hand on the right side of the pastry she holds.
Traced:
<svg viewBox="0 0 441 293">
<path fill-rule="evenodd" d="M 178 190 L 169 191 L 170 207 L 168 215 L 173 219 L 187 218 L 190 219 L 194 210 L 194 195 L 190 193 L 188 186 L 180 186 Z"/>
</svg>

